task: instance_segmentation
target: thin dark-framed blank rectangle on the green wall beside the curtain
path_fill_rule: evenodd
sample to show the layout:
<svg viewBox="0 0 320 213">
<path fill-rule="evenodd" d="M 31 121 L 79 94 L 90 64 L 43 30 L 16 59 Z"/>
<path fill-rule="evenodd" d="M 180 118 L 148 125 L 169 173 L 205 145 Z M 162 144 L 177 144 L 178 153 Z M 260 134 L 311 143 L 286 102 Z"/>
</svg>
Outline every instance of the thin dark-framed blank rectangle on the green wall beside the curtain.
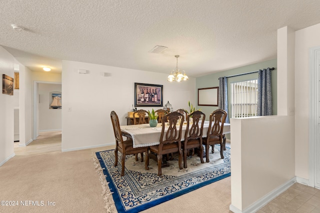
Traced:
<svg viewBox="0 0 320 213">
<path fill-rule="evenodd" d="M 198 106 L 218 106 L 219 87 L 198 89 Z"/>
</svg>

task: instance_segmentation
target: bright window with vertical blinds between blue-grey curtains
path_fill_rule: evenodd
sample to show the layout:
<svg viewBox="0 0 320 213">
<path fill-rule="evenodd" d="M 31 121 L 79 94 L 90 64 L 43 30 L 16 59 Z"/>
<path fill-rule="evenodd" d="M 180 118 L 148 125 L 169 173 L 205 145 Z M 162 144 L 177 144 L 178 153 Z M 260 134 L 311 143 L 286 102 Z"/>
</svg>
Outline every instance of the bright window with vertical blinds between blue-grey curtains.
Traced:
<svg viewBox="0 0 320 213">
<path fill-rule="evenodd" d="M 256 116 L 257 79 L 230 83 L 230 87 L 232 118 Z"/>
</svg>

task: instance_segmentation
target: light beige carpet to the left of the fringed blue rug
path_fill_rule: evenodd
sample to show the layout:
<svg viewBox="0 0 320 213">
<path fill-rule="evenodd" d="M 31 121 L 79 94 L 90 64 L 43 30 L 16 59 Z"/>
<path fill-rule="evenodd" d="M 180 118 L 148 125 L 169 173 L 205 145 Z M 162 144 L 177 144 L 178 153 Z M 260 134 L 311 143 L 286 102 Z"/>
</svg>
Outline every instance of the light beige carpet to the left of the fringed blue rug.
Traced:
<svg viewBox="0 0 320 213">
<path fill-rule="evenodd" d="M 15 156 L 0 167 L 0 200 L 18 201 L 18 206 L 0 206 L 0 212 L 104 212 L 101 192 L 88 150 Z"/>
</svg>

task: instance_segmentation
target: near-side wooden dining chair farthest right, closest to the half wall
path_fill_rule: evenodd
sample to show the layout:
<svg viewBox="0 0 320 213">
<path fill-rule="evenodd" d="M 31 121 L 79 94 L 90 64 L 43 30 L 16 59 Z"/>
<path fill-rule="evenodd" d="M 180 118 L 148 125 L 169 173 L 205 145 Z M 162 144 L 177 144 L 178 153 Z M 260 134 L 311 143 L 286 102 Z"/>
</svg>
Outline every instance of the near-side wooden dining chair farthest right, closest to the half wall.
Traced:
<svg viewBox="0 0 320 213">
<path fill-rule="evenodd" d="M 223 159 L 223 150 L 225 144 L 223 143 L 223 124 L 225 122 L 227 112 L 223 109 L 214 110 L 209 117 L 209 128 L 206 138 L 203 138 L 205 145 L 205 161 L 209 162 L 209 146 L 212 147 L 211 152 L 214 153 L 214 144 L 220 144 L 220 157 Z"/>
</svg>

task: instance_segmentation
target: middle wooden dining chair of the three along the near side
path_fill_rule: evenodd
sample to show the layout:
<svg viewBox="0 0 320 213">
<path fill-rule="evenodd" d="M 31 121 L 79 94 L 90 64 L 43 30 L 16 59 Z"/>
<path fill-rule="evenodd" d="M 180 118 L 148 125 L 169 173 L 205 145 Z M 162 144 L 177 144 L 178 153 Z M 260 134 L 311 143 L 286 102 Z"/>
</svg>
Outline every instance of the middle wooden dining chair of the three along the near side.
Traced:
<svg viewBox="0 0 320 213">
<path fill-rule="evenodd" d="M 189 119 L 190 118 L 190 119 Z M 190 125 L 190 120 L 192 121 Z M 205 114 L 201 111 L 194 111 L 186 116 L 186 131 L 184 141 L 181 142 L 183 150 L 183 168 L 187 168 L 186 156 L 189 149 L 199 149 L 200 161 L 203 164 L 202 133 Z"/>
</svg>

